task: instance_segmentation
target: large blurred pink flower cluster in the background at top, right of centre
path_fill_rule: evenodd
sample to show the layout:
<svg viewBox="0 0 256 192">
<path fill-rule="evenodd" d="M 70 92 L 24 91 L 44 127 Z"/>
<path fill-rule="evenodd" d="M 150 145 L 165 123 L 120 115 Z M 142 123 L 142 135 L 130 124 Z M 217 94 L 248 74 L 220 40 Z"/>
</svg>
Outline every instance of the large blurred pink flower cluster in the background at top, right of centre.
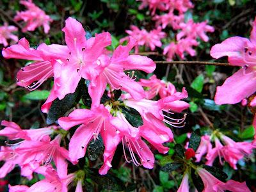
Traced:
<svg viewBox="0 0 256 192">
<path fill-rule="evenodd" d="M 170 40 L 170 44 L 166 45 L 163 54 L 166 55 L 168 61 L 173 60 L 175 55 L 179 56 L 182 60 L 185 59 L 185 52 L 190 56 L 195 56 L 196 51 L 193 47 L 198 46 L 198 38 L 207 42 L 209 40 L 206 35 L 207 32 L 213 32 L 214 28 L 207 25 L 207 21 L 194 22 L 193 19 L 185 21 L 184 13 L 193 8 L 193 4 L 189 0 L 142 0 L 140 8 L 149 8 L 152 20 L 156 21 L 156 29 L 146 31 L 139 29 L 136 26 L 131 26 L 131 30 L 126 33 L 136 38 L 138 46 L 150 47 L 154 51 L 155 47 L 161 47 L 161 39 L 165 38 L 164 31 L 166 27 L 172 28 L 176 34 L 175 40 Z M 161 15 L 157 15 L 156 11 L 159 10 Z M 168 13 L 166 13 L 168 11 Z M 178 13 L 176 14 L 175 11 Z M 126 38 L 122 38 L 120 42 L 124 42 Z M 138 52 L 138 47 L 136 49 Z"/>
</svg>

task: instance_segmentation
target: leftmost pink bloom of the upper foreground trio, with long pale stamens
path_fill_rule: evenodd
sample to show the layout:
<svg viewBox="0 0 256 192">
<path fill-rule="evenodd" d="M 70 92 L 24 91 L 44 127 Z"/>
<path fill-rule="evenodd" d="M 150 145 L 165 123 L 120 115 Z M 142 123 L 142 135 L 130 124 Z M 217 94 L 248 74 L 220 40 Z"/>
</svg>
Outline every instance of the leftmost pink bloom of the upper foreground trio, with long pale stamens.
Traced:
<svg viewBox="0 0 256 192">
<path fill-rule="evenodd" d="M 52 49 L 51 52 L 48 52 L 49 47 Z M 41 44 L 37 49 L 33 49 L 29 47 L 28 40 L 22 38 L 17 45 L 4 48 L 2 54 L 7 59 L 15 58 L 36 61 L 26 67 L 22 67 L 16 79 L 19 86 L 24 86 L 32 91 L 53 76 L 54 59 L 60 57 L 59 49 L 67 49 L 67 47 L 63 45 L 47 46 Z"/>
</svg>

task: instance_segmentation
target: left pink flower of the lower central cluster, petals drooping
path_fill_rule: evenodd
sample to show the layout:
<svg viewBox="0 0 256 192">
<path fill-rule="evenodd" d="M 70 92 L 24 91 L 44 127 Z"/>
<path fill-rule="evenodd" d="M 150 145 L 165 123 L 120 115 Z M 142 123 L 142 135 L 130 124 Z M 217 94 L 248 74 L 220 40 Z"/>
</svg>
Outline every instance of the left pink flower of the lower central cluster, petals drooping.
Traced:
<svg viewBox="0 0 256 192">
<path fill-rule="evenodd" d="M 113 153 L 115 152 L 114 148 L 120 142 L 120 138 L 116 136 L 115 125 L 110 122 L 111 118 L 112 116 L 108 109 L 102 104 L 90 110 L 76 109 L 67 117 L 59 118 L 58 123 L 65 130 L 70 129 L 74 125 L 81 124 L 70 139 L 68 146 L 69 157 L 72 161 L 77 161 L 84 157 L 88 143 L 92 139 L 96 140 L 100 134 L 105 145 L 105 151 L 103 154 L 104 164 L 100 168 L 99 173 L 106 174 L 108 172 L 108 169 L 111 167 L 110 162 L 112 161 Z"/>
</svg>

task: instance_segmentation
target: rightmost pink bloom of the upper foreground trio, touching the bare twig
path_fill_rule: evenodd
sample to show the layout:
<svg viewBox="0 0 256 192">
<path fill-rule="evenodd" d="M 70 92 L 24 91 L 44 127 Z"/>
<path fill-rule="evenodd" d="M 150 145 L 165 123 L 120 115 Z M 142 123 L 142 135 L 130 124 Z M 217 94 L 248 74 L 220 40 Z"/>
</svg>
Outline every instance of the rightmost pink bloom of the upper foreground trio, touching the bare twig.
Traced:
<svg viewBox="0 0 256 192">
<path fill-rule="evenodd" d="M 131 94 L 134 99 L 143 99 L 145 97 L 142 86 L 127 76 L 124 70 L 144 70 L 145 72 L 153 72 L 156 64 L 151 59 L 145 56 L 129 55 L 132 47 L 136 42 L 130 38 L 126 46 L 119 45 L 113 52 L 113 56 L 101 56 L 99 58 L 98 67 L 99 76 L 92 79 L 89 86 L 89 93 L 92 98 L 92 106 L 99 105 L 100 98 L 102 97 L 106 84 L 108 83 L 111 88 L 121 89 Z"/>
</svg>

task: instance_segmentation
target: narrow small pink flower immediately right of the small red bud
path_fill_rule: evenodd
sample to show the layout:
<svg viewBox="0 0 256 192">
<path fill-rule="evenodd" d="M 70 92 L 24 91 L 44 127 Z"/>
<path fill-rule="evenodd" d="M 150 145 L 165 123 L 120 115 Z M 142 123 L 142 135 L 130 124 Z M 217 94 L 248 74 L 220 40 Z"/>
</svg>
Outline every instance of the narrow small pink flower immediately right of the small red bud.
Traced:
<svg viewBox="0 0 256 192">
<path fill-rule="evenodd" d="M 207 152 L 210 152 L 212 149 L 212 144 L 211 144 L 211 138 L 208 135 L 204 135 L 201 137 L 200 145 L 196 150 L 196 162 L 200 162 L 202 159 L 202 156 L 204 154 L 207 154 Z"/>
</svg>

